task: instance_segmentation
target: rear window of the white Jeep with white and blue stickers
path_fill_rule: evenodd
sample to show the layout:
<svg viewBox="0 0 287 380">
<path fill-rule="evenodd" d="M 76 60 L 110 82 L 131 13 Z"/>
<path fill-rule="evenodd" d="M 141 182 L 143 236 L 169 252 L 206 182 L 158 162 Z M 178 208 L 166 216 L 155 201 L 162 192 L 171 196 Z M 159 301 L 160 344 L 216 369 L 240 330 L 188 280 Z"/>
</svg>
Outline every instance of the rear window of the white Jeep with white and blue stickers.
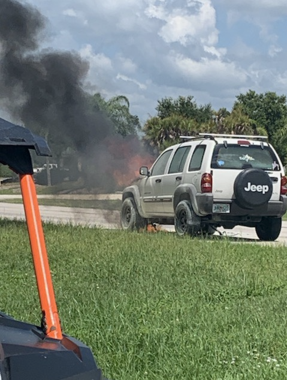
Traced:
<svg viewBox="0 0 287 380">
<path fill-rule="evenodd" d="M 214 147 L 211 161 L 213 169 L 245 169 L 280 170 L 279 162 L 269 146 L 241 146 L 237 144 L 218 144 Z"/>
</svg>

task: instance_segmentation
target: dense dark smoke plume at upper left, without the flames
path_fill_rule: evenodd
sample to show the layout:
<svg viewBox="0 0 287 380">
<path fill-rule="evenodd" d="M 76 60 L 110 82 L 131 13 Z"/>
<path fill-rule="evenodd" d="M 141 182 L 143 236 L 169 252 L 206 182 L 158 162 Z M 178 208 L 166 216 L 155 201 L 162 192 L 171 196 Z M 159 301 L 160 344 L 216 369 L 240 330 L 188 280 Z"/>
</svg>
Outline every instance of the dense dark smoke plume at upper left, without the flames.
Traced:
<svg viewBox="0 0 287 380">
<path fill-rule="evenodd" d="M 114 126 L 89 106 L 83 89 L 88 63 L 76 52 L 39 50 L 45 26 L 45 18 L 32 6 L 0 0 L 2 107 L 49 139 L 68 138 L 82 162 L 91 152 L 96 160 L 95 148 L 114 134 Z"/>
</svg>

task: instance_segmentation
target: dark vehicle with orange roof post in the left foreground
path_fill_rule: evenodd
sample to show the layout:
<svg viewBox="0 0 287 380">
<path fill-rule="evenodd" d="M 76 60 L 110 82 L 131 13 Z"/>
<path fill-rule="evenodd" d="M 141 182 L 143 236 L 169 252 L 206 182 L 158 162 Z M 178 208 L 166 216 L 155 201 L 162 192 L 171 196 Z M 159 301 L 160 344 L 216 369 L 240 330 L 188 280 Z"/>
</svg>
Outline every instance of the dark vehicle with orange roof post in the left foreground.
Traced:
<svg viewBox="0 0 287 380">
<path fill-rule="evenodd" d="M 91 350 L 61 331 L 30 149 L 51 155 L 43 138 L 0 119 L 0 162 L 19 174 L 42 310 L 41 326 L 0 312 L 0 380 L 104 380 Z"/>
</svg>

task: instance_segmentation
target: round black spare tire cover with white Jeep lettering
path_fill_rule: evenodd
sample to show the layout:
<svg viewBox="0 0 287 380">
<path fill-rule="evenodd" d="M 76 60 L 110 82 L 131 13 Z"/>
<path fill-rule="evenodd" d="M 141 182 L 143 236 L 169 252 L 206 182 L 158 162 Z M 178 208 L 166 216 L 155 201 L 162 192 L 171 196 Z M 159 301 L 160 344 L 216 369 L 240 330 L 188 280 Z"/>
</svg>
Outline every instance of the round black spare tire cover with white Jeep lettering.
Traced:
<svg viewBox="0 0 287 380">
<path fill-rule="evenodd" d="M 243 170 L 234 182 L 236 201 L 243 208 L 253 209 L 262 206 L 269 201 L 272 192 L 272 181 L 262 169 Z"/>
</svg>

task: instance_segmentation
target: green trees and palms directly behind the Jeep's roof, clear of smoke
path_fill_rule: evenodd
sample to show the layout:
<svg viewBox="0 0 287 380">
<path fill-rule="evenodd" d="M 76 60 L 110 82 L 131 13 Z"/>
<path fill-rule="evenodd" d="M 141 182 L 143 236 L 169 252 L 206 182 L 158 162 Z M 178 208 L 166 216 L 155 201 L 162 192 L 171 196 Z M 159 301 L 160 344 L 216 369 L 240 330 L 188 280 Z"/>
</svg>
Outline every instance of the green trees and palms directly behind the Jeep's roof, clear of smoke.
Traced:
<svg viewBox="0 0 287 380">
<path fill-rule="evenodd" d="M 237 95 L 232 110 L 197 105 L 192 96 L 158 100 L 156 116 L 143 127 L 144 141 L 156 150 L 179 141 L 180 135 L 200 132 L 268 136 L 282 161 L 287 163 L 287 103 L 285 95 L 249 90 Z"/>
</svg>

